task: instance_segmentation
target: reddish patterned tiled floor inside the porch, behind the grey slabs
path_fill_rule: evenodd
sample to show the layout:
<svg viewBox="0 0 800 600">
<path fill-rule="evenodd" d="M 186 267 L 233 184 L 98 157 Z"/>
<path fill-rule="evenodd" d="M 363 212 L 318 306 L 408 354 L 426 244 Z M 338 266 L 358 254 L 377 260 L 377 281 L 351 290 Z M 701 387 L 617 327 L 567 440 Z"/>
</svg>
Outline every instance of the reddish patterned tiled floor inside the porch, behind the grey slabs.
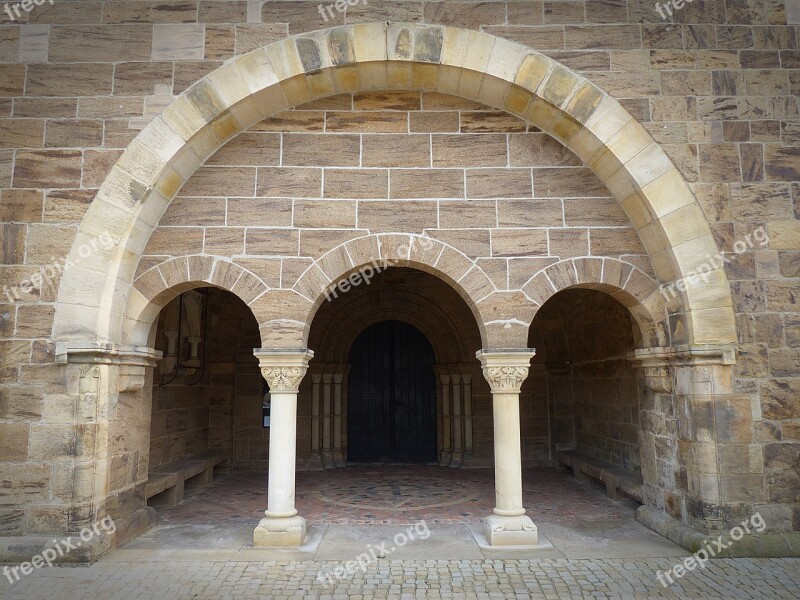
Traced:
<svg viewBox="0 0 800 600">
<path fill-rule="evenodd" d="M 494 508 L 494 471 L 351 466 L 299 472 L 296 490 L 298 513 L 309 525 L 478 523 Z M 523 498 L 535 522 L 613 522 L 632 512 L 606 498 L 600 486 L 555 469 L 526 470 Z M 164 523 L 253 523 L 266 507 L 266 475 L 234 473 L 219 476 L 211 487 L 159 512 Z"/>
</svg>

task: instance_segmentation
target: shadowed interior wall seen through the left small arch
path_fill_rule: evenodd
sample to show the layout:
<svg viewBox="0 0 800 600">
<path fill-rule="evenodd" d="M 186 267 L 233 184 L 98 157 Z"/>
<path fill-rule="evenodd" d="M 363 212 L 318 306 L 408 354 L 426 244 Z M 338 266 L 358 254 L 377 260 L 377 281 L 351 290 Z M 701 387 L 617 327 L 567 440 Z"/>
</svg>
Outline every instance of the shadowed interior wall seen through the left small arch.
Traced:
<svg viewBox="0 0 800 600">
<path fill-rule="evenodd" d="M 163 310 L 155 345 L 167 350 L 165 330 L 177 333 L 181 296 Z M 252 349 L 258 345 L 258 330 L 248 308 L 233 294 L 208 290 L 207 326 L 200 342 L 198 368 L 176 370 L 163 359 L 155 371 L 150 433 L 150 464 L 155 469 L 201 452 L 222 449 L 239 460 L 265 455 L 268 439 L 261 427 L 261 374 Z M 189 343 L 185 316 L 180 362 L 187 364 Z M 255 344 L 255 346 L 254 346 Z M 190 366 L 194 366 L 191 364 Z M 169 368 L 168 368 L 169 367 Z M 258 440 L 251 450 L 251 438 Z"/>
</svg>

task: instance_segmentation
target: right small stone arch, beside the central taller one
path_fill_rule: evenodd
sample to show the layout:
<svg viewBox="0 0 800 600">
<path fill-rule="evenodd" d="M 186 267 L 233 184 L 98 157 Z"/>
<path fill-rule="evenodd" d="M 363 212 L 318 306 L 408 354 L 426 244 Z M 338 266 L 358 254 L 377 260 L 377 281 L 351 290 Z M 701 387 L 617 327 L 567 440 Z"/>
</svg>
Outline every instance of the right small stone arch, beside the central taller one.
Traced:
<svg viewBox="0 0 800 600">
<path fill-rule="evenodd" d="M 667 307 L 658 282 L 636 265 L 609 257 L 562 260 L 535 273 L 522 291 L 538 311 L 556 293 L 570 288 L 605 292 L 625 306 L 641 330 L 639 347 L 670 344 Z"/>
</svg>

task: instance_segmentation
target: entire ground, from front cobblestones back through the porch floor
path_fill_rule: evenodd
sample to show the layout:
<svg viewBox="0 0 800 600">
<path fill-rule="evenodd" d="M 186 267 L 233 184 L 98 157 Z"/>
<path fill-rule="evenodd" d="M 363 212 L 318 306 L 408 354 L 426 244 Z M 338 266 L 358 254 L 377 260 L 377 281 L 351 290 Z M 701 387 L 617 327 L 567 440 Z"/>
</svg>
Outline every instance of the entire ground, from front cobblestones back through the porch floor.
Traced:
<svg viewBox="0 0 800 600">
<path fill-rule="evenodd" d="M 393 525 L 424 515 L 435 521 L 424 542 L 430 543 L 448 528 L 473 527 L 477 515 L 490 510 L 491 473 L 382 466 L 298 476 L 298 507 L 316 529 L 328 528 L 313 558 L 271 560 L 258 555 L 261 550 L 241 548 L 245 538 L 252 539 L 265 494 L 258 474 L 237 473 L 161 511 L 159 527 L 90 567 L 42 568 L 13 586 L 0 577 L 0 598 L 800 598 L 800 559 L 714 560 L 664 588 L 656 572 L 671 569 L 687 553 L 633 521 L 630 504 L 611 501 L 599 486 L 552 469 L 525 476 L 526 505 L 556 545 L 545 558 L 467 559 L 475 556 L 468 548 L 422 548 L 417 540 L 405 555 L 398 551 L 396 559 L 387 555 L 337 579 L 337 567 L 367 547 L 368 537 L 346 535 L 350 529 L 393 531 Z M 466 494 L 474 503 L 454 504 L 443 490 L 462 500 Z M 359 505 L 355 496 L 375 505 Z M 378 509 L 371 524 L 362 524 Z M 184 529 L 190 523 L 196 527 Z M 203 527 L 208 530 L 198 534 Z M 343 529 L 333 535 L 337 527 Z"/>
</svg>

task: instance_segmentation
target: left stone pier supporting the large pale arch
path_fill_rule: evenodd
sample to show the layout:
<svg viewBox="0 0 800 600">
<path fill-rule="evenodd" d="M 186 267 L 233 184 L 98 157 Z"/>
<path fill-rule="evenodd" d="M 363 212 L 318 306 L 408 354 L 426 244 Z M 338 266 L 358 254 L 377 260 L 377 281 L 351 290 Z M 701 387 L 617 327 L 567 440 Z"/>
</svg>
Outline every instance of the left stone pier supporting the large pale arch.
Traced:
<svg viewBox="0 0 800 600">
<path fill-rule="evenodd" d="M 62 488 L 59 502 L 27 504 L 36 515 L 29 518 L 30 532 L 74 534 L 105 516 L 116 524 L 113 534 L 95 536 L 65 560 L 95 560 L 156 520 L 144 487 L 151 386 L 160 358 L 161 352 L 146 347 L 56 343 L 58 371 L 45 402 L 65 410 L 54 410 L 34 425 L 31 444 L 33 452 L 52 457 L 50 467 Z"/>
</svg>

